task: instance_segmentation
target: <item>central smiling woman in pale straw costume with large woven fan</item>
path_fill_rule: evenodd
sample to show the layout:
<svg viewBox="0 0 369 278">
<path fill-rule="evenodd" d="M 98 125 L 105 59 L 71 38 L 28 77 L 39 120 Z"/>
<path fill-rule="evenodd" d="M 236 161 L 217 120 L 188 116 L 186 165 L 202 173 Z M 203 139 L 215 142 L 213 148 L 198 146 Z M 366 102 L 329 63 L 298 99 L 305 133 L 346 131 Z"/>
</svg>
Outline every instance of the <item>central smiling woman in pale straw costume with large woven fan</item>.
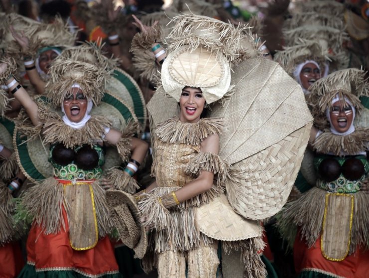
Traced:
<svg viewBox="0 0 369 278">
<path fill-rule="evenodd" d="M 108 206 L 118 224 L 127 217 L 119 211 L 135 207 L 151 232 L 143 265 L 161 278 L 185 277 L 186 268 L 191 278 L 216 277 L 219 242 L 224 277 L 265 277 L 259 220 L 286 202 L 301 163 L 312 120 L 303 93 L 277 63 L 254 55 L 247 27 L 193 14 L 174 23 L 162 86 L 148 104 L 156 182 L 136 194 L 138 205 L 108 190 Z M 118 229 L 123 241 L 126 230 Z"/>
</svg>

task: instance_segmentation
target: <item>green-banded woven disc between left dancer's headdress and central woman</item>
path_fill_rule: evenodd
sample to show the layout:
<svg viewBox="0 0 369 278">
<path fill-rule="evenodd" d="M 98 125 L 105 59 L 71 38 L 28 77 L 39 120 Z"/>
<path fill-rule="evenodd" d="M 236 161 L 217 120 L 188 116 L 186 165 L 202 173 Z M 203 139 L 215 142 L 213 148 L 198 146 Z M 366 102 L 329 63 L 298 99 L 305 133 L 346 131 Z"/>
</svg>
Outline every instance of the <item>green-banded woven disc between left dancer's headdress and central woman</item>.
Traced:
<svg viewBox="0 0 369 278">
<path fill-rule="evenodd" d="M 111 78 L 107 80 L 107 91 L 121 100 L 134 112 L 142 129 L 146 126 L 147 111 L 145 99 L 136 81 L 125 71 L 114 69 Z"/>
</svg>

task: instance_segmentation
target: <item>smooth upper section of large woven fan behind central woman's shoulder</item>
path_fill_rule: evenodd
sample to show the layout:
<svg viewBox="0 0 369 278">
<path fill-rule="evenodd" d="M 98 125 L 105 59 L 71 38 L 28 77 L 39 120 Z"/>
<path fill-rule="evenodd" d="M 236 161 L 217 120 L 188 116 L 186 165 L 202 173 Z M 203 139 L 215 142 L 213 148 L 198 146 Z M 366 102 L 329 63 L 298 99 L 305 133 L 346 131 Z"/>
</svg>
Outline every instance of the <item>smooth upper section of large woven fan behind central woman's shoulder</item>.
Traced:
<svg viewBox="0 0 369 278">
<path fill-rule="evenodd" d="M 251 156 L 312 122 L 300 85 L 276 62 L 249 59 L 233 71 L 234 94 L 210 112 L 224 121 L 219 155 L 228 162 Z"/>
</svg>

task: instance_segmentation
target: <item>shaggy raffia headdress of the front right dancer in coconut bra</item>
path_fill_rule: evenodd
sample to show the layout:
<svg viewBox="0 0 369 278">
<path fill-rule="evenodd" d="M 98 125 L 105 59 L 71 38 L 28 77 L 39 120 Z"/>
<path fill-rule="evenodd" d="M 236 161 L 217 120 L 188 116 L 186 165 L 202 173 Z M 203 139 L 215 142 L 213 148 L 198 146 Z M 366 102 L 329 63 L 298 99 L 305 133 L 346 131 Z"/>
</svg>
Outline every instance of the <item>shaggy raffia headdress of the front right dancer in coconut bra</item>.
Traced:
<svg viewBox="0 0 369 278">
<path fill-rule="evenodd" d="M 312 106 L 315 125 L 324 130 L 329 127 L 326 110 L 331 107 L 332 100 L 338 94 L 340 99 L 348 99 L 357 110 L 362 110 L 360 97 L 369 96 L 369 85 L 366 72 L 351 68 L 336 71 L 319 79 L 310 87 L 311 95 L 308 103 Z"/>
</svg>

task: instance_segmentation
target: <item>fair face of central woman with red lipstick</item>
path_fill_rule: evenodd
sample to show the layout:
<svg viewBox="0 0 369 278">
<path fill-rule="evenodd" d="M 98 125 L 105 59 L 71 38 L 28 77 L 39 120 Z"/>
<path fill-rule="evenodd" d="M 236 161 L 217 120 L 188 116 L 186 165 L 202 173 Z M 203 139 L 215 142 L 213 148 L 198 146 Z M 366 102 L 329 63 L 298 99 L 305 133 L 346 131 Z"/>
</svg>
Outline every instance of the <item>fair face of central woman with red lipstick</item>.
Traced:
<svg viewBox="0 0 369 278">
<path fill-rule="evenodd" d="M 180 98 L 180 121 L 196 123 L 204 109 L 205 99 L 199 88 L 184 87 Z"/>
</svg>

